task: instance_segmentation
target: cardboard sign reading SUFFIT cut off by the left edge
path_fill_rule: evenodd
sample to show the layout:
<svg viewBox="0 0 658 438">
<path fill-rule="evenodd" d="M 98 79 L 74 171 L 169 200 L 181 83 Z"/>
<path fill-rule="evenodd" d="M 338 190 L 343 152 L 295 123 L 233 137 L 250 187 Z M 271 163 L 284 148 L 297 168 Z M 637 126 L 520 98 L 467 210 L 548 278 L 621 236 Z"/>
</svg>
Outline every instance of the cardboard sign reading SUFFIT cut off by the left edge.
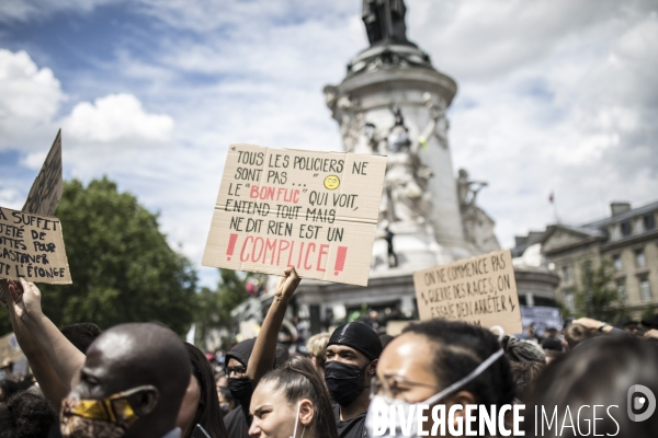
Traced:
<svg viewBox="0 0 658 438">
<path fill-rule="evenodd" d="M 71 283 L 59 219 L 0 207 L 0 278 Z"/>
</svg>

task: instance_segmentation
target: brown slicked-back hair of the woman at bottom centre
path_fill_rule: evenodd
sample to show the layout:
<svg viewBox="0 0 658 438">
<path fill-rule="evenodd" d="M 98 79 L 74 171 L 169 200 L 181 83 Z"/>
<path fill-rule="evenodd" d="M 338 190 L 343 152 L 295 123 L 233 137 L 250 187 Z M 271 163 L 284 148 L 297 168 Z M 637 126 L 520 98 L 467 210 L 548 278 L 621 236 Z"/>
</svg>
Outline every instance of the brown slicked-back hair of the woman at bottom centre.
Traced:
<svg viewBox="0 0 658 438">
<path fill-rule="evenodd" d="M 314 417 L 310 428 L 316 438 L 338 438 L 333 408 L 327 395 L 327 389 L 318 371 L 310 360 L 304 357 L 293 357 L 281 367 L 268 372 L 259 382 L 273 382 L 276 391 L 286 401 L 296 404 L 302 399 L 308 399 L 314 406 Z"/>
</svg>

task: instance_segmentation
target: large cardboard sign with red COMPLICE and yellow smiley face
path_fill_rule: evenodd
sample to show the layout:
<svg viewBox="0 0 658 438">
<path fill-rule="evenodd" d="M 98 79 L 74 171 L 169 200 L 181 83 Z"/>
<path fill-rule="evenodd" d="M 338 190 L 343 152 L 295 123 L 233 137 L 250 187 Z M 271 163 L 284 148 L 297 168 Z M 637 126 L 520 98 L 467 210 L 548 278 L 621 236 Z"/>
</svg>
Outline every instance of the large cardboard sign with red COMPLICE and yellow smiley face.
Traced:
<svg viewBox="0 0 658 438">
<path fill-rule="evenodd" d="M 231 145 L 202 264 L 367 285 L 386 157 Z"/>
</svg>

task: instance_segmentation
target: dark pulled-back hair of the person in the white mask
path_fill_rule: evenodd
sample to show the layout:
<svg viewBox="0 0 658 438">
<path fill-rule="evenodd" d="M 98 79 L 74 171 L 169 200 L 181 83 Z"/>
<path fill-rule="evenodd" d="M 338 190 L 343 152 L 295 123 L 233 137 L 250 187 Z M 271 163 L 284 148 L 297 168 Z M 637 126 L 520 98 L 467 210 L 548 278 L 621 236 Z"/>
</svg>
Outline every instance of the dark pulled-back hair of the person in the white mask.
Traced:
<svg viewBox="0 0 658 438">
<path fill-rule="evenodd" d="M 432 368 L 443 388 L 468 376 L 501 348 L 491 332 L 457 321 L 431 320 L 409 325 L 402 333 L 424 336 L 434 344 Z M 477 404 L 511 404 L 515 385 L 507 357 L 496 360 L 462 390 L 470 392 Z"/>
</svg>

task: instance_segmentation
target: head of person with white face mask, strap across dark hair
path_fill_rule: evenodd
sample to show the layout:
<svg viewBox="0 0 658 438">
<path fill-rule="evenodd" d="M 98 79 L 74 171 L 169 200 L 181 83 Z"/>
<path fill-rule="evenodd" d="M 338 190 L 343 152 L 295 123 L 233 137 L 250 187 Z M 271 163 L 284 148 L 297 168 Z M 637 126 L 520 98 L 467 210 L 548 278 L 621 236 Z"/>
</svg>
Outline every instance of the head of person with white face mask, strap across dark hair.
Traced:
<svg viewBox="0 0 658 438">
<path fill-rule="evenodd" d="M 415 437 L 418 417 L 431 418 L 433 406 L 445 405 L 445 413 L 453 405 L 463 406 L 454 415 L 453 427 L 458 429 L 466 405 L 499 408 L 512 404 L 515 387 L 508 359 L 494 334 L 464 322 L 431 320 L 408 326 L 386 347 L 371 393 L 365 420 L 368 436 L 374 436 L 383 423 L 377 418 L 378 413 L 390 412 L 390 405 L 398 405 L 396 412 L 413 415 L 411 435 L 404 434 L 398 425 L 393 433 L 386 428 L 384 436 Z M 429 406 L 429 412 L 421 412 L 419 405 Z M 477 410 L 473 415 L 477 417 Z M 423 430 L 431 430 L 430 422 Z M 446 436 L 451 436 L 446 429 Z M 479 430 L 477 422 L 473 429 Z"/>
</svg>

